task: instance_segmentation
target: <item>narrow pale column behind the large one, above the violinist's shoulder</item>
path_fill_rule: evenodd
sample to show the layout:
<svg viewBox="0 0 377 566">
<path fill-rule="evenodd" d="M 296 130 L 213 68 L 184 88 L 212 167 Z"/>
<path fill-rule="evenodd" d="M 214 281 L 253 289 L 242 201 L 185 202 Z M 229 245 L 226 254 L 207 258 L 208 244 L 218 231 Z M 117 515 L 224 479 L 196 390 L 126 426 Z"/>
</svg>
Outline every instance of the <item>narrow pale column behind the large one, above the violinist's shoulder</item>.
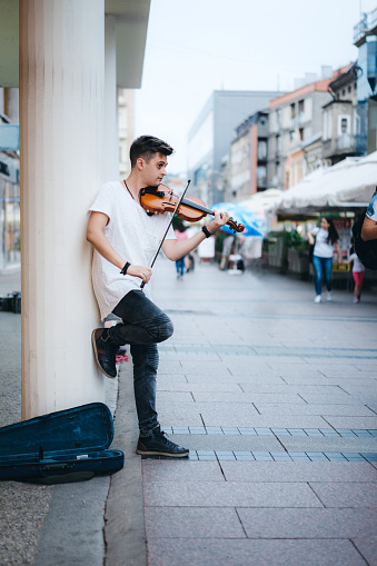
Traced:
<svg viewBox="0 0 377 566">
<path fill-rule="evenodd" d="M 119 179 L 116 17 L 105 17 L 105 147 L 103 179 Z"/>
</svg>

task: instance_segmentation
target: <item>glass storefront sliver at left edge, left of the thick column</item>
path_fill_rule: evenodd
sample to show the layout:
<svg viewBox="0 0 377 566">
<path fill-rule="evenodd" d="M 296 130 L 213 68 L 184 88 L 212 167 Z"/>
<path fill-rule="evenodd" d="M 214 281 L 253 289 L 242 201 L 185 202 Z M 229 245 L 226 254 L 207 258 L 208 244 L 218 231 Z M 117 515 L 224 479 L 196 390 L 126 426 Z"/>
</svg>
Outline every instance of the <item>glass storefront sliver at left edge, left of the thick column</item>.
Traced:
<svg viewBox="0 0 377 566">
<path fill-rule="evenodd" d="M 21 264 L 20 183 L 14 165 L 0 173 L 0 272 Z"/>
</svg>

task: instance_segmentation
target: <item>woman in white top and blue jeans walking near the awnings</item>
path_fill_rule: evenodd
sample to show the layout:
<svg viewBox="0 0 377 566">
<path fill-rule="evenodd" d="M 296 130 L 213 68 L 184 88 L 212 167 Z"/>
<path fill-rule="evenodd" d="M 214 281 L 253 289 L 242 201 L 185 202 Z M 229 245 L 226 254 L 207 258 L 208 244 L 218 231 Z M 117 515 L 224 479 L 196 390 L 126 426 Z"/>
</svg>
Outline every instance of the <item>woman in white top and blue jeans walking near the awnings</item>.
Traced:
<svg viewBox="0 0 377 566">
<path fill-rule="evenodd" d="M 321 301 L 323 277 L 327 288 L 327 300 L 333 300 L 333 255 L 334 250 L 338 256 L 338 264 L 343 262 L 339 235 L 334 226 L 333 218 L 320 219 L 320 227 L 308 232 L 309 244 L 314 245 L 312 267 L 315 270 L 315 302 Z"/>
</svg>

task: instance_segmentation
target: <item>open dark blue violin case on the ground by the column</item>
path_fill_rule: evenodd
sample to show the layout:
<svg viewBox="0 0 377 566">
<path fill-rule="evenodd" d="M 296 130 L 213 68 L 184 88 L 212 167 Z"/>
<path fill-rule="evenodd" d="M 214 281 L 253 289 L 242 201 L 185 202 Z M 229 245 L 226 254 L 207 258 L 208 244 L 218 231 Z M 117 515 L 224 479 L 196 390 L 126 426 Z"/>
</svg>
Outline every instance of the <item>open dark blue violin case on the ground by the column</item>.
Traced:
<svg viewBox="0 0 377 566">
<path fill-rule="evenodd" d="M 91 403 L 0 428 L 0 480 L 61 484 L 112 474 L 125 455 L 109 450 L 110 409 Z"/>
</svg>

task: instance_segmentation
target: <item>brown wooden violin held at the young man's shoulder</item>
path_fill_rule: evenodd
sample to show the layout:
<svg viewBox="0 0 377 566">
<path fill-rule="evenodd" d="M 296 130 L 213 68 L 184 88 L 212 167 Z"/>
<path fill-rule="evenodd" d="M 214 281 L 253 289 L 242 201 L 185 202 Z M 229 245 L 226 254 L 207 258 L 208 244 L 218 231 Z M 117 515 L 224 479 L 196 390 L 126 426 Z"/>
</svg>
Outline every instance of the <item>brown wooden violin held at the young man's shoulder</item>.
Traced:
<svg viewBox="0 0 377 566">
<path fill-rule="evenodd" d="M 175 212 L 178 202 L 179 196 L 175 195 L 166 185 L 146 187 L 140 190 L 140 205 L 150 216 Z M 197 222 L 207 215 L 215 215 L 215 211 L 206 208 L 202 200 L 196 197 L 188 197 L 181 200 L 176 214 L 178 218 L 187 222 Z M 232 218 L 229 218 L 227 225 L 235 232 L 242 232 L 245 230 L 245 226 L 242 224 L 237 224 Z"/>
</svg>

